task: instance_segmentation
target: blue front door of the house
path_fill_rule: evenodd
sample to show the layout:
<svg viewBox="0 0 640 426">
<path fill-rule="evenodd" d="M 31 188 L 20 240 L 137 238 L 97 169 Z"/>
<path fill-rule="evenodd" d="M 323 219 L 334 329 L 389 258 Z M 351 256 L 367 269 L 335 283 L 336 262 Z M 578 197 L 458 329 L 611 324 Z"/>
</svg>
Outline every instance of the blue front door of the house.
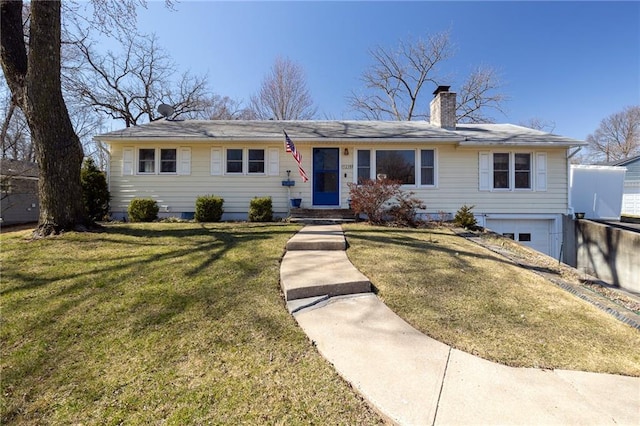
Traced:
<svg viewBox="0 0 640 426">
<path fill-rule="evenodd" d="M 338 148 L 313 149 L 313 205 L 340 204 L 340 150 Z"/>
</svg>

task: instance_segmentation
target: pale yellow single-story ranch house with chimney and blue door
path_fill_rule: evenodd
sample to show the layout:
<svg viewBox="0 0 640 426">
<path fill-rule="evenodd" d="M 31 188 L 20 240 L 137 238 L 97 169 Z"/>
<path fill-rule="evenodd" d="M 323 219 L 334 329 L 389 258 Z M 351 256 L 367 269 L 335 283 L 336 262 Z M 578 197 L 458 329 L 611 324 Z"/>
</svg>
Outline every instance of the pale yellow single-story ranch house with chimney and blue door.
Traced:
<svg viewBox="0 0 640 426">
<path fill-rule="evenodd" d="M 434 92 L 425 121 L 156 121 L 99 135 L 109 145 L 114 218 L 135 197 L 189 217 L 199 195 L 224 198 L 224 219 L 270 196 L 311 209 L 347 208 L 348 183 L 386 175 L 421 198 L 422 214 L 475 206 L 479 225 L 557 257 L 569 206 L 569 151 L 584 142 L 511 124 L 456 124 L 455 93 Z M 302 155 L 302 182 L 286 131 Z M 295 186 L 285 186 L 287 170 Z M 290 191 L 290 192 L 289 192 Z"/>
</svg>

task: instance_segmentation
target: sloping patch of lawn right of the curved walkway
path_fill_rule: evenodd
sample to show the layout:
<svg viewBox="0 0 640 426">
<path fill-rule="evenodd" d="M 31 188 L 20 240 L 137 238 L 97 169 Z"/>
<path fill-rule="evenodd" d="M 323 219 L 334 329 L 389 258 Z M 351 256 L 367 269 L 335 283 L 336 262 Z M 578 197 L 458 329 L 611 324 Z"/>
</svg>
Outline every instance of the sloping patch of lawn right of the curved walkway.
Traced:
<svg viewBox="0 0 640 426">
<path fill-rule="evenodd" d="M 425 334 L 511 366 L 640 376 L 640 332 L 446 228 L 344 226 L 349 259 Z"/>
</svg>

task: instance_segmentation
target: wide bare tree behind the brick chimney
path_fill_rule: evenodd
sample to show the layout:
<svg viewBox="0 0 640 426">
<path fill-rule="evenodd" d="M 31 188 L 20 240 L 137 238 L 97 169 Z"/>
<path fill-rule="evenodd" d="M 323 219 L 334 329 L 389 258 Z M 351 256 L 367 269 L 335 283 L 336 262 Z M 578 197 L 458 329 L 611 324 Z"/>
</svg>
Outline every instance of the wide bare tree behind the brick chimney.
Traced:
<svg viewBox="0 0 640 426">
<path fill-rule="evenodd" d="M 400 41 L 395 50 L 369 51 L 374 64 L 361 77 L 365 89 L 347 98 L 351 107 L 369 120 L 424 120 L 429 117 L 432 87 L 448 82 L 442 64 L 453 56 L 449 32 L 417 41 Z M 502 112 L 506 100 L 500 93 L 497 71 L 477 67 L 456 90 L 456 115 L 460 122 L 490 122 L 489 110 Z"/>
</svg>

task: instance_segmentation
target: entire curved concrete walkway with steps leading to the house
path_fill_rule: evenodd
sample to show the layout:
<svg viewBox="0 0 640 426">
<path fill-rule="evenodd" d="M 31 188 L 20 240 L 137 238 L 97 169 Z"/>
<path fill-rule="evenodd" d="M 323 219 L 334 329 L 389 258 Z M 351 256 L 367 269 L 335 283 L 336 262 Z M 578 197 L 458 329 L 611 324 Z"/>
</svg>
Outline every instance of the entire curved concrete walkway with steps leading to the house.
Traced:
<svg viewBox="0 0 640 426">
<path fill-rule="evenodd" d="M 287 306 L 320 353 L 400 425 L 639 425 L 640 379 L 512 368 L 420 333 L 349 262 L 340 225 L 304 227 L 287 244 Z"/>
</svg>

